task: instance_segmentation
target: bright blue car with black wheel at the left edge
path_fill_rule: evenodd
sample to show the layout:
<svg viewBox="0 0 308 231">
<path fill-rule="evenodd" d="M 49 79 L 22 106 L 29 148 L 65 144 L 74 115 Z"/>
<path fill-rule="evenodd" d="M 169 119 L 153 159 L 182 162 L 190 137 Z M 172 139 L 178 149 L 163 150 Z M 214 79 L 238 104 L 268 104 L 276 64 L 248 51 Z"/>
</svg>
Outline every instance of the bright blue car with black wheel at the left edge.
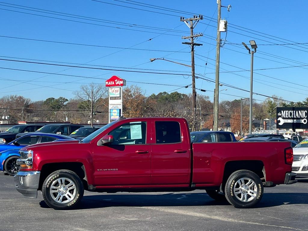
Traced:
<svg viewBox="0 0 308 231">
<path fill-rule="evenodd" d="M 31 144 L 52 142 L 55 140 L 75 140 L 74 138 L 52 133 L 29 133 L 8 144 L 0 144 L 0 170 L 14 176 L 18 169 L 16 160 L 19 150 Z"/>
</svg>

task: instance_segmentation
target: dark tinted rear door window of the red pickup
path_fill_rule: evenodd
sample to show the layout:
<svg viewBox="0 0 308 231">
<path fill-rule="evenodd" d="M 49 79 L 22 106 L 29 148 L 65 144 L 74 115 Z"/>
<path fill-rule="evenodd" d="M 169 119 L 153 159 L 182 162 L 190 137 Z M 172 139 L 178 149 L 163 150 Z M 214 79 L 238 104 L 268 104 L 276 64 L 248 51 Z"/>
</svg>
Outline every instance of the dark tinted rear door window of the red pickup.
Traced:
<svg viewBox="0 0 308 231">
<path fill-rule="evenodd" d="M 176 121 L 155 122 L 156 144 L 172 144 L 181 142 L 180 124 Z"/>
</svg>

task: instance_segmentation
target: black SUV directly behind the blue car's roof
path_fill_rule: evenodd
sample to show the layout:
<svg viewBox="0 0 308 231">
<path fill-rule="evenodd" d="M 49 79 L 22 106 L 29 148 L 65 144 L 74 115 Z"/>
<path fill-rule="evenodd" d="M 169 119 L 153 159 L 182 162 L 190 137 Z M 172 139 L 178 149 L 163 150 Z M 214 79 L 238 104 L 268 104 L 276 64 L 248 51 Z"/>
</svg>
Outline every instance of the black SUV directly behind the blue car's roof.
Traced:
<svg viewBox="0 0 308 231">
<path fill-rule="evenodd" d="M 68 136 L 78 128 L 83 128 L 83 125 L 78 124 L 47 124 L 35 132 L 43 132 L 43 133 L 54 133 L 54 134 L 60 134 L 64 136 Z M 20 133 L 16 136 L 16 138 L 21 137 L 25 135 L 24 133 Z"/>
</svg>

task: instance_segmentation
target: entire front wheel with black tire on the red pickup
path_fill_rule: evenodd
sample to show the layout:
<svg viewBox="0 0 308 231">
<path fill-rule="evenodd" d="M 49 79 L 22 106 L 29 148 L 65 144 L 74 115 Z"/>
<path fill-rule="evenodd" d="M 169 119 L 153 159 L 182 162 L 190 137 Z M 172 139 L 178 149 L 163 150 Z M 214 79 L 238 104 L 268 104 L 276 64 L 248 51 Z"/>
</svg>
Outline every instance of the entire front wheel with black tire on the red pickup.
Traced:
<svg viewBox="0 0 308 231">
<path fill-rule="evenodd" d="M 67 169 L 51 173 L 42 187 L 46 204 L 53 209 L 59 210 L 76 208 L 81 202 L 83 192 L 83 183 L 79 176 Z"/>
</svg>

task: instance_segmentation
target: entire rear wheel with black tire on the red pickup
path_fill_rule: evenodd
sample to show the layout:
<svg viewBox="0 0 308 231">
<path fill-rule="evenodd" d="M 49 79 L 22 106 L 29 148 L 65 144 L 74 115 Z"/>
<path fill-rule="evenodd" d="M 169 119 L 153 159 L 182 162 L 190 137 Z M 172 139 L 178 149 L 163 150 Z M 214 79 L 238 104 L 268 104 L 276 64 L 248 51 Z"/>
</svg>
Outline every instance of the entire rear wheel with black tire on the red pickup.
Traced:
<svg viewBox="0 0 308 231">
<path fill-rule="evenodd" d="M 249 187 L 249 185 L 252 186 Z M 236 208 L 251 208 L 261 201 L 262 196 L 263 184 L 260 177 L 254 172 L 248 170 L 233 172 L 226 182 L 225 197 Z"/>
</svg>

